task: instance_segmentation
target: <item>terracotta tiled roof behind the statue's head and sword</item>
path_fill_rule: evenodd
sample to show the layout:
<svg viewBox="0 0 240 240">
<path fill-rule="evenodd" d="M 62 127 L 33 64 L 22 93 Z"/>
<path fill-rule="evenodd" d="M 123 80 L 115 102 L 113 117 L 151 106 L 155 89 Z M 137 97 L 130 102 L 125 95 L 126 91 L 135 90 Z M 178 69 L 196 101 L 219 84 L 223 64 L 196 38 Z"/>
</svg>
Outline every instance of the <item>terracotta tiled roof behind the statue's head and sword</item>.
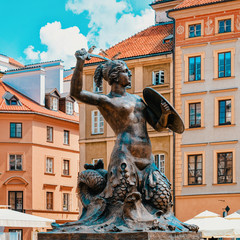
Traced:
<svg viewBox="0 0 240 240">
<path fill-rule="evenodd" d="M 119 59 L 134 58 L 153 55 L 171 51 L 173 42 L 164 43 L 164 38 L 173 34 L 173 24 L 159 24 L 149 27 L 132 37 L 107 49 L 107 58 L 111 59 L 115 54 L 121 52 Z M 100 59 L 92 58 L 88 63 L 101 62 Z M 70 77 L 70 75 L 68 76 Z M 65 78 L 66 79 L 66 78 Z"/>
</svg>

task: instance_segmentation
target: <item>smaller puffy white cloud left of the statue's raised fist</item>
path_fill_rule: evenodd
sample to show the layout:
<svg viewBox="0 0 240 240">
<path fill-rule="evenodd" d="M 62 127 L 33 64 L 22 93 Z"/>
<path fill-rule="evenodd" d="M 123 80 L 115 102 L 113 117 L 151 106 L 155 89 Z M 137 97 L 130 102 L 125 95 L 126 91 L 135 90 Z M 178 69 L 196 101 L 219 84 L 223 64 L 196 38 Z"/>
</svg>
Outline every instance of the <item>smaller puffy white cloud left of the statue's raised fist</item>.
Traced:
<svg viewBox="0 0 240 240">
<path fill-rule="evenodd" d="M 40 30 L 41 43 L 47 51 L 34 51 L 33 46 L 24 50 L 27 59 L 39 61 L 64 60 L 66 68 L 75 65 L 74 53 L 77 49 L 87 48 L 87 38 L 78 27 L 62 29 L 60 22 L 48 23 Z"/>
</svg>

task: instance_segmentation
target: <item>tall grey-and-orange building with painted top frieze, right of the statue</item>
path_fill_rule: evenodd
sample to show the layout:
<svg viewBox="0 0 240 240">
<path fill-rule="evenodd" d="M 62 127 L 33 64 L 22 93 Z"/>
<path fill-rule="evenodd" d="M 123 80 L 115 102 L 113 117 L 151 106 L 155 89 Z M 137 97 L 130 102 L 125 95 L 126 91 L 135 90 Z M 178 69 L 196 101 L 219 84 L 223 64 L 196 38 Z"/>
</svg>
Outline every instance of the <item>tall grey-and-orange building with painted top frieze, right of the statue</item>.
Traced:
<svg viewBox="0 0 240 240">
<path fill-rule="evenodd" d="M 240 209 L 240 1 L 185 0 L 175 19 L 176 216 Z"/>
</svg>

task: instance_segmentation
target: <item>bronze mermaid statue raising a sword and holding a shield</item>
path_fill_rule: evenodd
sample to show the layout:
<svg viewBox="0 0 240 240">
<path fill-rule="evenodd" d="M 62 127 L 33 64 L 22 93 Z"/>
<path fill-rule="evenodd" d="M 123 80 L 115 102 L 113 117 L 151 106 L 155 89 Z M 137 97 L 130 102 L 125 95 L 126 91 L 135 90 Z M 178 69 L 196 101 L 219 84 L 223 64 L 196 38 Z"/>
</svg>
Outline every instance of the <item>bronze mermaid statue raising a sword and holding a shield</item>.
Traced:
<svg viewBox="0 0 240 240">
<path fill-rule="evenodd" d="M 55 230 L 197 231 L 196 226 L 180 222 L 172 213 L 171 184 L 154 163 L 146 126 L 148 123 L 156 131 L 171 128 L 182 133 L 184 125 L 180 117 L 163 97 L 159 100 L 153 89 L 144 89 L 146 102 L 127 93 L 132 74 L 121 60 L 104 58 L 106 61 L 95 70 L 96 85 L 99 87 L 104 79 L 111 86 L 108 95 L 83 90 L 84 63 L 96 55 L 81 49 L 75 56 L 71 96 L 95 105 L 116 134 L 116 141 L 108 171 L 100 160 L 95 165 L 85 164 L 86 170 L 78 176 L 78 196 L 83 205 L 79 220 L 55 225 Z M 151 103 L 156 99 L 158 106 L 154 109 L 157 104 L 151 106 Z"/>
</svg>

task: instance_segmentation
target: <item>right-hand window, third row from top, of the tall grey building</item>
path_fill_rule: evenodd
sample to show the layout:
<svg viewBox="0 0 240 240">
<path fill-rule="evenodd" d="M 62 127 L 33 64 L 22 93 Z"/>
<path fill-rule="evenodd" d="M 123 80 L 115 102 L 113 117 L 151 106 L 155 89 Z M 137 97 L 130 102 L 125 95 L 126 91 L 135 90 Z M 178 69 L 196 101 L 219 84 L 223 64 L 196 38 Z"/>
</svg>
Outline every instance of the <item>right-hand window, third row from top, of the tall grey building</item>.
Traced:
<svg viewBox="0 0 240 240">
<path fill-rule="evenodd" d="M 231 112 L 231 100 L 219 101 L 219 125 L 231 124 L 232 112 Z"/>
</svg>

